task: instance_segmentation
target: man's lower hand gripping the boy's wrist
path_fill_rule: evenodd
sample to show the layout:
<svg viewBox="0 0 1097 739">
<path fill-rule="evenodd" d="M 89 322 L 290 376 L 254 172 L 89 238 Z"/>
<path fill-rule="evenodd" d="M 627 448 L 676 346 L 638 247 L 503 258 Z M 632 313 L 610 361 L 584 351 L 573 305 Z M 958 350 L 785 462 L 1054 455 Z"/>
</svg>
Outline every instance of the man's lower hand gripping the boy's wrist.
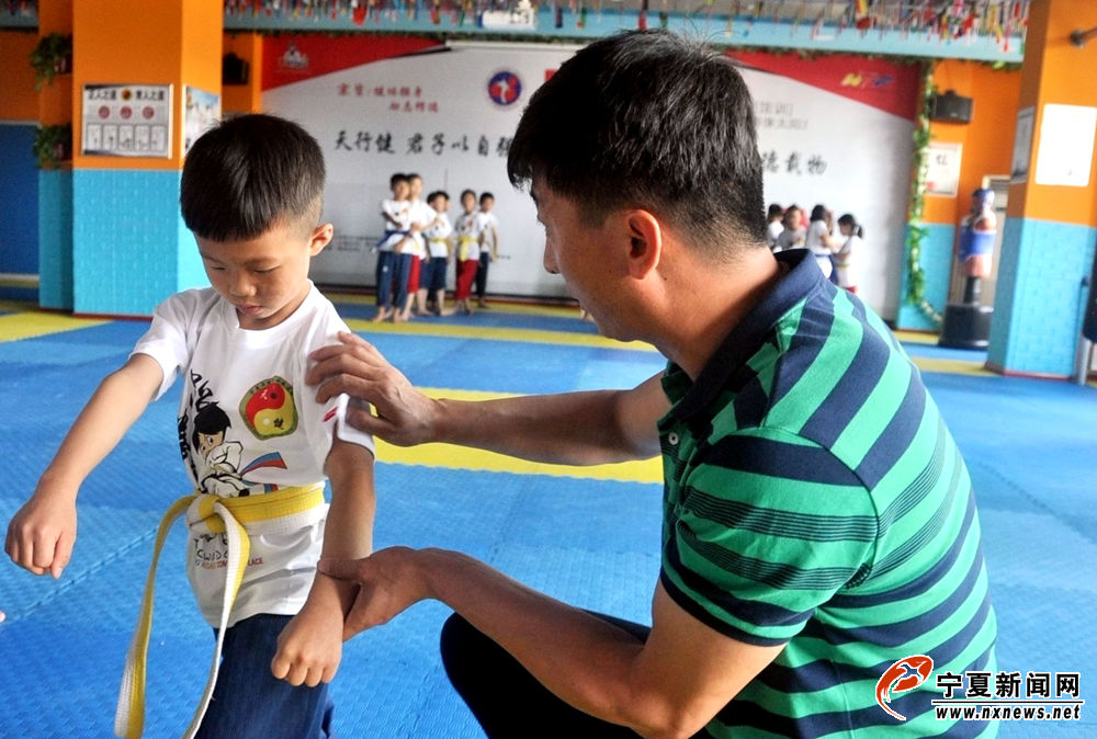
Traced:
<svg viewBox="0 0 1097 739">
<path fill-rule="evenodd" d="M 358 595 L 343 622 L 343 639 L 388 623 L 421 600 L 430 589 L 417 567 L 420 552 L 391 547 L 361 559 L 320 559 L 316 569 L 338 580 L 355 582 Z"/>
</svg>

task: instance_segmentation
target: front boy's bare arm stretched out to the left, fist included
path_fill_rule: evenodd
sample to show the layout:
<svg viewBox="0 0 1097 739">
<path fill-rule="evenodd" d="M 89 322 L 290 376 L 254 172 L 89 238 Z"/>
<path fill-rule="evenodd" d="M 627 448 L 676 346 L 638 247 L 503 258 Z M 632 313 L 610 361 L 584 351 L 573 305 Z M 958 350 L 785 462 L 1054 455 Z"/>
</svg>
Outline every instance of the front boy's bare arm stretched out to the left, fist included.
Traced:
<svg viewBox="0 0 1097 739">
<path fill-rule="evenodd" d="M 61 442 L 34 494 L 8 524 L 4 552 L 35 575 L 59 578 L 76 541 L 76 498 L 80 485 L 111 453 L 163 380 L 160 364 L 134 354 L 108 375 Z"/>
</svg>

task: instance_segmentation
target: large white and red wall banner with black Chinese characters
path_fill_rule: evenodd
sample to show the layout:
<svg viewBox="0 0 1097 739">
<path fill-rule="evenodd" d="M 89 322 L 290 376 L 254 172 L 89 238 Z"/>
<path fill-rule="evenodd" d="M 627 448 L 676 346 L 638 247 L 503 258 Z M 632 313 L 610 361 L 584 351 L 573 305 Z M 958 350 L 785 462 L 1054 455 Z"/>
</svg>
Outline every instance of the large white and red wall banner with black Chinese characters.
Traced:
<svg viewBox="0 0 1097 739">
<path fill-rule="evenodd" d="M 500 254 L 489 289 L 563 296 L 541 269 L 543 232 L 507 180 L 507 151 L 530 95 L 575 47 L 440 43 L 411 36 L 264 39 L 263 109 L 297 121 L 328 166 L 325 217 L 336 239 L 314 260 L 319 283 L 374 283 L 371 249 L 395 172 L 426 191 L 496 196 Z M 767 201 L 853 213 L 870 248 L 862 294 L 893 316 L 909 190 L 916 73 L 881 60 L 739 54 L 755 99 Z"/>
</svg>

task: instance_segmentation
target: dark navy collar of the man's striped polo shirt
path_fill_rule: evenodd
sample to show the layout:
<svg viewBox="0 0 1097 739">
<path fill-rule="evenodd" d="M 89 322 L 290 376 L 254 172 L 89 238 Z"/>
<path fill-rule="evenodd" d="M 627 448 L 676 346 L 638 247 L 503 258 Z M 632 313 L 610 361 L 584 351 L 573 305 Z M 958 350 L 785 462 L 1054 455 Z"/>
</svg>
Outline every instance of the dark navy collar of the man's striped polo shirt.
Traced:
<svg viewBox="0 0 1097 739">
<path fill-rule="evenodd" d="M 815 258 L 806 249 L 780 251 L 773 257 L 788 265 L 788 274 L 732 328 L 698 375 L 697 382 L 690 383 L 689 376 L 677 364 L 671 362 L 667 365 L 663 388 L 670 402 L 675 403 L 668 419 L 687 421 L 704 410 L 726 386 L 732 374 L 761 348 L 781 317 L 827 284 Z"/>
</svg>

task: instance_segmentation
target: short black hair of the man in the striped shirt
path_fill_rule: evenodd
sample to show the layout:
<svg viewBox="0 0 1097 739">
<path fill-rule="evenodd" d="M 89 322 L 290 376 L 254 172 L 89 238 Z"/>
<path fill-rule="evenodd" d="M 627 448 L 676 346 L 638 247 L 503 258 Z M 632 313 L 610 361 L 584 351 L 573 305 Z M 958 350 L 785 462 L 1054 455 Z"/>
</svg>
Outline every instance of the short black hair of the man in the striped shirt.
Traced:
<svg viewBox="0 0 1097 739">
<path fill-rule="evenodd" d="M 750 93 L 727 57 L 666 31 L 597 41 L 530 99 L 510 146 L 514 186 L 543 182 L 592 224 L 642 207 L 725 259 L 765 247 Z"/>
</svg>

